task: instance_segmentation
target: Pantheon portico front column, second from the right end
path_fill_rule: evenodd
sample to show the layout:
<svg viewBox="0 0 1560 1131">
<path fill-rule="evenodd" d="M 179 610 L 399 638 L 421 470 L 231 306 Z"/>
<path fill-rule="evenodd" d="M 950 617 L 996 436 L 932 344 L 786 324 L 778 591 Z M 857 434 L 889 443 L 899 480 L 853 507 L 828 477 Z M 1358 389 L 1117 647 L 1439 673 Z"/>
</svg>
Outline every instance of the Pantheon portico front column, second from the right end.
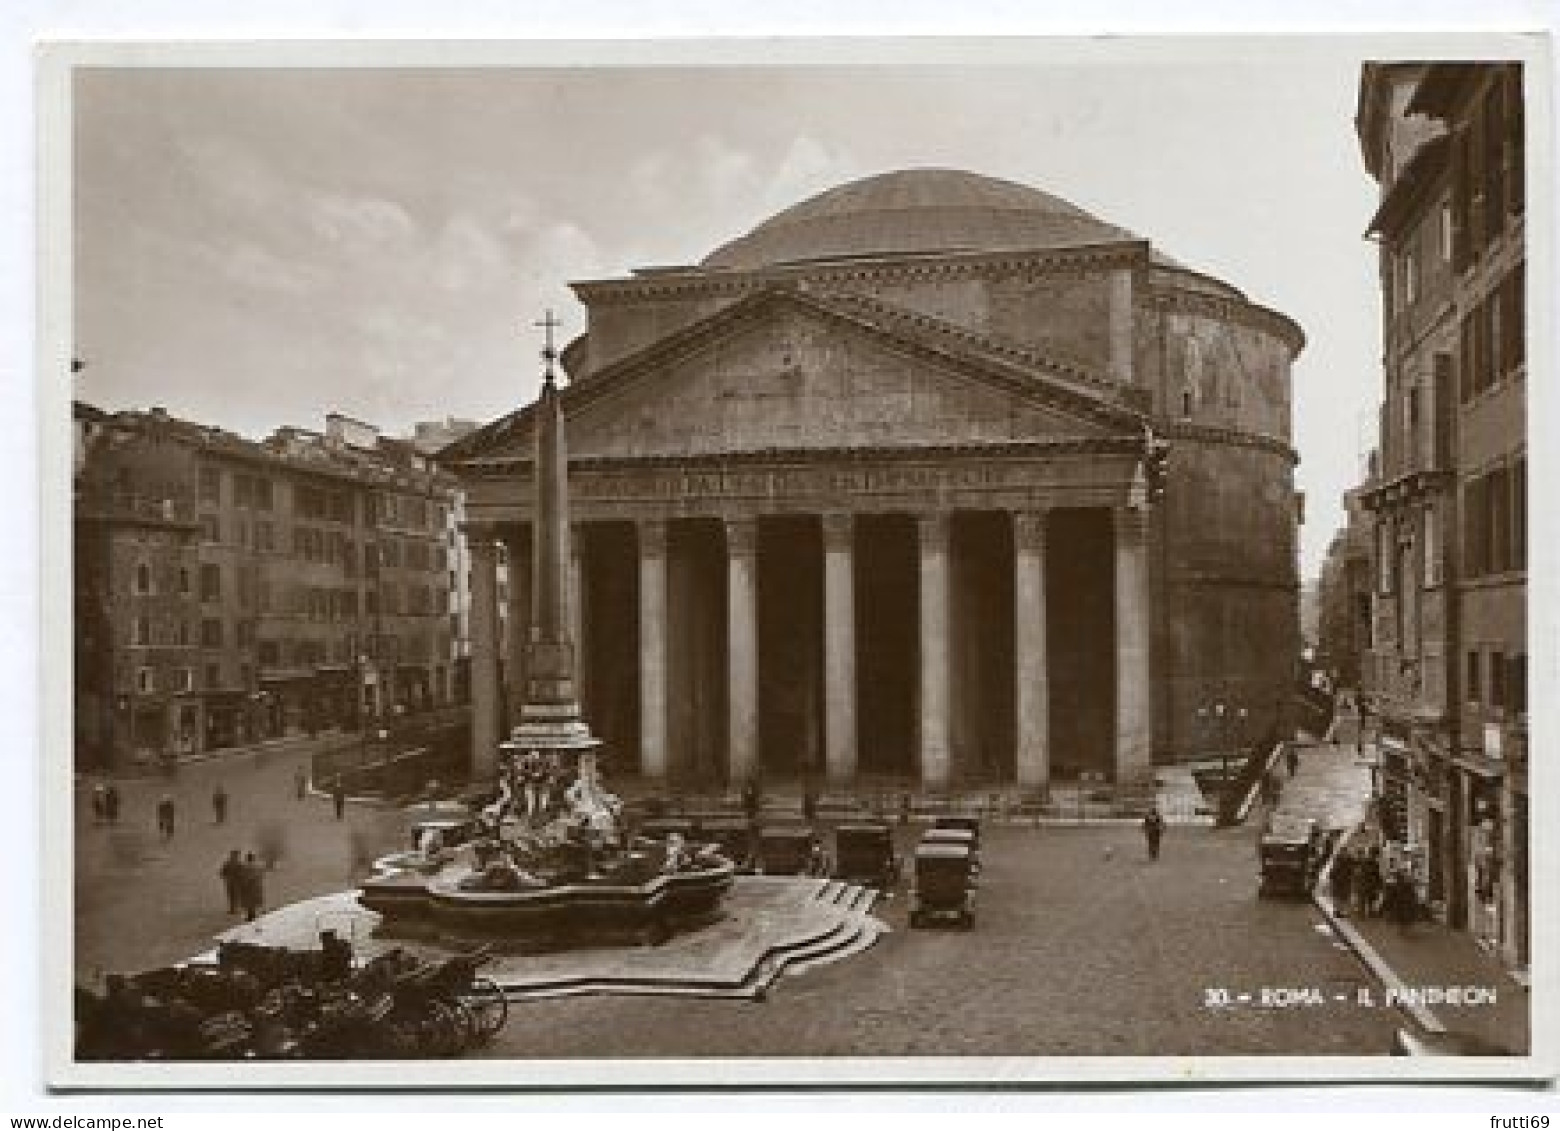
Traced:
<svg viewBox="0 0 1560 1131">
<path fill-rule="evenodd" d="M 1045 513 L 1012 516 L 1014 738 L 1019 786 L 1050 782 L 1050 682 L 1045 647 Z"/>
</svg>

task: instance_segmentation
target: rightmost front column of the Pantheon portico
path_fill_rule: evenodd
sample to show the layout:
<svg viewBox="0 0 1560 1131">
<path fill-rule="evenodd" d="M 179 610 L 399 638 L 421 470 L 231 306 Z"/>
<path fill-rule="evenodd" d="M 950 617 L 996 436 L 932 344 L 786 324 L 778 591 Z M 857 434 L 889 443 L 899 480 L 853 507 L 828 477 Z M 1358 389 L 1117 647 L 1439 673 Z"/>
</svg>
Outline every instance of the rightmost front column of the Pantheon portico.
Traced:
<svg viewBox="0 0 1560 1131">
<path fill-rule="evenodd" d="M 1117 507 L 1115 526 L 1115 777 L 1151 774 L 1148 718 L 1148 515 Z"/>
</svg>

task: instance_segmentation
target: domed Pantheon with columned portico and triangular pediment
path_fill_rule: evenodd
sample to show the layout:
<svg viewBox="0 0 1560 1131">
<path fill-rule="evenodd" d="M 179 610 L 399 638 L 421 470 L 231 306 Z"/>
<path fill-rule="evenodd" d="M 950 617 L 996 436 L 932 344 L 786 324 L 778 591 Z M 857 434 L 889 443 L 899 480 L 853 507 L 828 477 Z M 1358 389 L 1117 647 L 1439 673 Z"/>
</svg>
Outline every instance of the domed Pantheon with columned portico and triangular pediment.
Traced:
<svg viewBox="0 0 1560 1131">
<path fill-rule="evenodd" d="M 573 289 L 573 635 L 615 775 L 1041 791 L 1276 724 L 1285 315 L 1039 189 L 936 168 Z M 532 409 L 441 460 L 487 761 L 524 686 Z"/>
</svg>

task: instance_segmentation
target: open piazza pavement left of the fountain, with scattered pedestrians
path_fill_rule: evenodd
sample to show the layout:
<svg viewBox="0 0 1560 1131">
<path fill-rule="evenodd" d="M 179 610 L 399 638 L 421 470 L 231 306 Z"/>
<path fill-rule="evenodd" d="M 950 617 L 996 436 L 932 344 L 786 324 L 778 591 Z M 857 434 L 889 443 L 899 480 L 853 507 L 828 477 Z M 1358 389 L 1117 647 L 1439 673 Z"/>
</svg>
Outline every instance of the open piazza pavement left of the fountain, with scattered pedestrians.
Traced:
<svg viewBox="0 0 1560 1131">
<path fill-rule="evenodd" d="M 265 906 L 273 908 L 339 891 L 363 874 L 360 861 L 374 849 L 404 842 L 398 813 L 348 805 L 339 822 L 328 797 L 298 800 L 293 774 L 306 755 L 306 744 L 262 747 L 184 764 L 173 778 L 122 780 L 117 825 L 94 824 L 89 785 L 78 783 L 76 977 L 92 984 L 100 972 L 148 969 L 206 950 L 214 934 L 239 922 L 217 878 L 229 849 L 278 849 L 276 867 L 265 875 Z M 218 782 L 229 797 L 222 825 L 211 803 Z M 154 816 L 164 792 L 175 802 L 168 841 Z"/>
</svg>

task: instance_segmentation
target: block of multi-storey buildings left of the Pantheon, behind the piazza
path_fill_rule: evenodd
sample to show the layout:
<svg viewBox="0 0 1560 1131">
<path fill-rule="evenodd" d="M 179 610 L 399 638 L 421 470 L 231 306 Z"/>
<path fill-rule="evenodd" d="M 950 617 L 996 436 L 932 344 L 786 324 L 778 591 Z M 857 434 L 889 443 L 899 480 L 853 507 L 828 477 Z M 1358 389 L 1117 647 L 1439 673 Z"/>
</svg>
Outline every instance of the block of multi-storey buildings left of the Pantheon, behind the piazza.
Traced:
<svg viewBox="0 0 1560 1131">
<path fill-rule="evenodd" d="M 346 417 L 262 443 L 161 409 L 97 421 L 75 515 L 83 764 L 451 702 L 457 502 Z"/>
</svg>

